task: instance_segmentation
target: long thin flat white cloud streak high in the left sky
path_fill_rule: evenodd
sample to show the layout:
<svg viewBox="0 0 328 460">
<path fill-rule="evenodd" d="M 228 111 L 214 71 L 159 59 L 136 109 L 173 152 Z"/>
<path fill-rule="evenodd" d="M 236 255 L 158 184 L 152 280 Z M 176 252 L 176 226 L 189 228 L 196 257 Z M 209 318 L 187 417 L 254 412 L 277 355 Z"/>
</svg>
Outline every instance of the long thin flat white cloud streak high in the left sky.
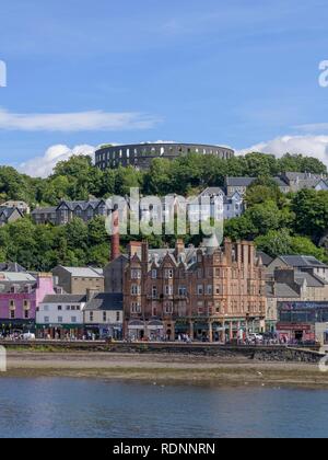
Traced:
<svg viewBox="0 0 328 460">
<path fill-rule="evenodd" d="M 0 129 L 23 131 L 92 131 L 150 129 L 160 122 L 133 112 L 77 112 L 63 114 L 17 114 L 0 108 Z"/>
</svg>

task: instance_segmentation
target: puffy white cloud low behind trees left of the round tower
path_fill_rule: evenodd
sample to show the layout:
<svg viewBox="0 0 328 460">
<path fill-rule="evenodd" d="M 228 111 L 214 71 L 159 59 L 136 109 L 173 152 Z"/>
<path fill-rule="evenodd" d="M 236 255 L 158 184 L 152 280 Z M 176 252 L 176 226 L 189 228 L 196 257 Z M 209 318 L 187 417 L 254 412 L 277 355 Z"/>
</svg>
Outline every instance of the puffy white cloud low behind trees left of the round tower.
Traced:
<svg viewBox="0 0 328 460">
<path fill-rule="evenodd" d="M 77 146 L 70 149 L 67 146 L 52 146 L 43 157 L 37 157 L 19 165 L 17 170 L 33 177 L 47 177 L 59 161 L 68 160 L 72 156 L 89 154 L 94 159 L 96 148 L 92 146 Z"/>
</svg>

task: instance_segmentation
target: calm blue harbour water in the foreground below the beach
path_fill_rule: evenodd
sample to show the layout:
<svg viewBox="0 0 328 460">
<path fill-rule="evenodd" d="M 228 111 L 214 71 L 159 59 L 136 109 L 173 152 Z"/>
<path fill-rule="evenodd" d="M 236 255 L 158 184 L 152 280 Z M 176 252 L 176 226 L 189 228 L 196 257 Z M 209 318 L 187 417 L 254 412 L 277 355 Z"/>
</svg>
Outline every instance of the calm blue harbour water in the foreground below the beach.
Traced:
<svg viewBox="0 0 328 460">
<path fill-rule="evenodd" d="M 0 379 L 0 437 L 327 437 L 328 391 Z"/>
</svg>

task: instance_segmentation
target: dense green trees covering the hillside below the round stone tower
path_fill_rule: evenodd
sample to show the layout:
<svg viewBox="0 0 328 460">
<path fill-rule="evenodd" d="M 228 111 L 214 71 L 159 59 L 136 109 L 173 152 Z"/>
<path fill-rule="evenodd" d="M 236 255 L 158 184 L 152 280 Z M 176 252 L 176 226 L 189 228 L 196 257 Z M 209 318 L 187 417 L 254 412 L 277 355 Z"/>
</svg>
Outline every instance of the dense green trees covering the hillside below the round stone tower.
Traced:
<svg viewBox="0 0 328 460">
<path fill-rule="evenodd" d="M 226 161 L 191 153 L 174 161 L 155 159 L 145 172 L 133 168 L 103 172 L 93 166 L 90 157 L 72 157 L 58 163 L 47 179 L 33 179 L 13 168 L 0 166 L 0 198 L 22 199 L 34 208 L 56 206 L 62 198 L 124 196 L 130 187 L 140 187 L 142 194 L 187 196 L 207 186 L 223 186 L 226 175 L 255 176 L 258 179 L 245 197 L 247 209 L 242 217 L 225 222 L 225 235 L 235 241 L 255 241 L 271 256 L 307 254 L 328 261 L 328 192 L 282 194 L 270 177 L 286 171 L 326 174 L 327 168 L 317 159 L 302 156 L 277 159 L 249 153 Z M 152 246 L 164 248 L 174 244 L 175 237 L 149 240 Z M 200 237 L 185 240 L 198 245 Z M 122 239 L 122 245 L 128 242 L 129 238 Z M 62 227 L 35 226 L 26 217 L 0 228 L 0 261 L 15 261 L 27 269 L 50 271 L 59 264 L 103 266 L 108 257 L 109 237 L 99 217 L 87 223 L 74 219 Z"/>
</svg>

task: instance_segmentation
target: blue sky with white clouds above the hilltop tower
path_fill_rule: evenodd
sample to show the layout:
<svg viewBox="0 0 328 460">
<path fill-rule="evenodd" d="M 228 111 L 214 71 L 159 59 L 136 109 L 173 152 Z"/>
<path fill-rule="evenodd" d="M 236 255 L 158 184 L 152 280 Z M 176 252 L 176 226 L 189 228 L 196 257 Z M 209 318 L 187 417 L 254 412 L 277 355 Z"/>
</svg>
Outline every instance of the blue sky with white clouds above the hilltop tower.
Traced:
<svg viewBox="0 0 328 460">
<path fill-rule="evenodd" d="M 0 162 L 160 139 L 326 161 L 327 23 L 327 0 L 2 2 Z"/>
</svg>

